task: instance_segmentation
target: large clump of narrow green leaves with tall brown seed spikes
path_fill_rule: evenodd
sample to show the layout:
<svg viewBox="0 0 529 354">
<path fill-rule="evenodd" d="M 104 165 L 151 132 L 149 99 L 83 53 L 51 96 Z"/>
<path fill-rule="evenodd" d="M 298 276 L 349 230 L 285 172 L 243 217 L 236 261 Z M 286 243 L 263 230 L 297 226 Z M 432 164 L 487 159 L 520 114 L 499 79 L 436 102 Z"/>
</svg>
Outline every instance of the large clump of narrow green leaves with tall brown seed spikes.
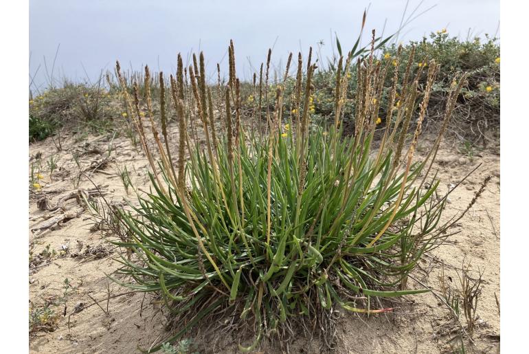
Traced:
<svg viewBox="0 0 529 354">
<path fill-rule="evenodd" d="M 337 307 L 384 313 L 392 308 L 376 298 L 427 291 L 409 287 L 407 274 L 447 236 L 447 224 L 439 223 L 446 199 L 435 197 L 439 181 L 429 172 L 464 77 L 454 78 L 439 135 L 427 156 L 416 162 L 414 152 L 439 67 L 431 61 L 426 71 L 414 67 L 403 76 L 396 71 L 385 89 L 391 62 L 375 61 L 373 47 L 357 61 L 352 60 L 354 51 L 339 58 L 333 120 L 326 128 L 310 124 L 311 97 L 317 94 L 312 49 L 306 65 L 299 54 L 293 105 L 285 107 L 281 83 L 273 93 L 268 85 L 263 87 L 263 100 L 275 96 L 275 106 L 262 112 L 263 134 L 249 129 L 243 119 L 233 43 L 228 49 L 229 80 L 218 91 L 223 102 L 217 109 L 205 83 L 203 54 L 188 67 L 189 81 L 184 80 L 179 56 L 177 76 L 170 78 L 179 124 L 177 151 L 168 142 L 164 109 L 159 133 L 150 86 L 144 85 L 143 118 L 137 82 L 131 96 L 117 63 L 153 190 L 138 196 L 139 206 L 131 206 L 132 211 L 118 211 L 128 238 L 115 243 L 132 250 L 133 257 L 122 256 L 124 266 L 115 280 L 164 299 L 180 325 L 163 342 L 181 339 L 208 316 L 230 316 L 235 324 L 229 329 L 253 338 L 247 346 L 239 344 L 251 351 L 262 338 L 288 340 L 295 324 L 329 335 L 330 313 Z M 412 67 L 412 56 L 396 60 L 408 60 Z M 283 83 L 289 68 L 290 60 Z M 354 133 L 343 137 L 346 73 L 352 68 L 358 73 Z M 419 99 L 423 75 L 427 82 Z M 269 60 L 265 82 L 268 76 Z M 144 80 L 150 82 L 147 67 Z M 159 82 L 163 92 L 164 80 Z M 389 102 L 385 115 L 380 113 L 383 100 Z M 412 127 L 416 107 L 419 114 Z M 221 124 L 216 124 L 218 119 Z M 193 121 L 195 128 L 202 127 L 199 139 L 196 131 L 189 133 Z M 218 125 L 225 131 L 218 131 Z M 148 144 L 147 129 L 155 149 Z M 382 137 L 374 148 L 376 131 Z M 175 165 L 172 155 L 177 156 Z M 429 178 L 430 188 L 423 188 Z M 132 281 L 124 280 L 126 276 Z M 161 344 L 150 351 L 160 349 Z"/>
</svg>

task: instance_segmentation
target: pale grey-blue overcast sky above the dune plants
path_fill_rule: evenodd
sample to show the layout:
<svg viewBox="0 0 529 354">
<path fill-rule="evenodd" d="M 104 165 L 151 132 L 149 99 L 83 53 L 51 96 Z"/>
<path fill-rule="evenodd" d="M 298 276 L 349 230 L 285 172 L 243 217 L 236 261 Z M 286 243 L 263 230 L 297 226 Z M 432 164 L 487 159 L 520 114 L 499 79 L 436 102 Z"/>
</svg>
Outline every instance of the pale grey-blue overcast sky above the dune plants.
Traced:
<svg viewBox="0 0 529 354">
<path fill-rule="evenodd" d="M 399 41 L 419 40 L 429 32 L 447 28 L 466 38 L 497 32 L 499 0 L 410 0 L 406 17 L 416 5 L 425 14 L 407 25 Z M 370 30 L 394 32 L 401 23 L 405 0 L 30 0 L 30 75 L 46 85 L 44 60 L 54 76 L 82 80 L 113 69 L 116 59 L 124 67 L 174 71 L 176 54 L 186 57 L 203 50 L 208 72 L 227 62 L 233 38 L 238 75 L 250 78 L 273 46 L 275 65 L 289 52 L 304 54 L 323 40 L 322 56 L 330 55 L 331 33 L 337 33 L 344 52 L 359 34 L 364 8 L 369 8 L 364 43 Z M 385 23 L 385 21 L 387 21 Z M 41 67 L 38 69 L 38 66 Z M 85 70 L 87 74 L 85 74 Z"/>
</svg>

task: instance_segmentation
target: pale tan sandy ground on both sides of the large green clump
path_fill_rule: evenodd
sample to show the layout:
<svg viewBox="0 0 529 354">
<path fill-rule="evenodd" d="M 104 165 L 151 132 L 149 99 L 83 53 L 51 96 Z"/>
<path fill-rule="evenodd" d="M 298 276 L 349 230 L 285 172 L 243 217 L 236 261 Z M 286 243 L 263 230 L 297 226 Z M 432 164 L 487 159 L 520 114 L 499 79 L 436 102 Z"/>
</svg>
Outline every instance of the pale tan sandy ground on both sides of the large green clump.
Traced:
<svg viewBox="0 0 529 354">
<path fill-rule="evenodd" d="M 61 197 L 77 188 L 90 190 L 96 184 L 108 192 L 106 199 L 134 201 L 134 192 L 131 190 L 130 195 L 126 193 L 118 166 L 127 167 L 133 184 L 145 186 L 148 183 L 148 164 L 126 137 L 112 140 L 111 137 L 88 136 L 78 139 L 69 133 L 63 137 L 62 145 L 63 151 L 60 152 L 57 152 L 51 139 L 30 145 L 30 165 L 32 162 L 35 164 L 37 155 L 41 154 L 41 166 L 45 170 L 49 157 L 58 156 L 58 167 L 51 176 L 49 172 L 41 172 L 44 177 L 41 179 L 42 191 L 37 194 L 30 192 L 29 241 L 33 256 L 28 277 L 30 301 L 36 307 L 45 302 L 55 303 L 56 306 L 52 307 L 59 315 L 54 331 L 30 334 L 30 352 L 137 352 L 138 347 L 146 348 L 164 335 L 166 320 L 157 311 L 158 305 L 151 304 L 150 298 L 144 298 L 142 294 L 117 296 L 108 303 L 104 300 L 100 306 L 93 305 L 93 299 L 106 299 L 109 291 L 111 296 L 128 291 L 105 276 L 119 266 L 113 261 L 117 250 L 104 241 L 100 231 L 94 231 L 89 214 L 76 213 L 80 204 L 75 198 L 63 204 L 66 212 L 39 210 L 37 200 L 46 195 L 53 207 Z M 427 144 L 423 143 L 423 146 Z M 453 287 L 459 284 L 456 269 L 460 269 L 463 262 L 471 262 L 473 276 L 478 269 L 484 272 L 477 309 L 480 326 L 473 336 L 474 346 L 467 343 L 466 351 L 496 353 L 499 351 L 499 309 L 495 297 L 499 300 L 499 155 L 481 151 L 469 159 L 458 153 L 457 147 L 444 144 L 434 164 L 442 180 L 441 193 L 447 191 L 449 184 L 458 183 L 477 164 L 482 165 L 452 193 L 444 213 L 445 219 L 468 206 L 487 175 L 493 175 L 493 179 L 460 221 L 457 229 L 461 232 L 451 236 L 449 243 L 425 256 L 412 276 L 423 285 L 439 289 L 443 267 L 444 278 Z M 425 147 L 423 149 L 426 150 Z M 79 167 L 74 155 L 79 156 L 80 168 L 87 171 L 93 184 L 82 178 L 76 186 Z M 98 167 L 101 162 L 105 164 Z M 44 232 L 34 230 L 50 220 L 44 217 L 62 214 L 67 214 L 67 219 L 58 225 Z M 55 250 L 56 254 L 38 256 L 47 245 L 49 251 Z M 66 296 L 65 278 L 73 287 Z M 409 280 L 409 286 L 422 285 Z M 434 294 L 408 296 L 397 301 L 392 304 L 394 313 L 383 316 L 368 318 L 341 313 L 337 326 L 337 353 L 449 353 L 458 348 L 458 344 L 451 341 L 457 332 L 449 333 L 449 329 L 458 329 L 458 326 L 451 319 L 447 307 Z M 83 309 L 87 305 L 92 306 Z M 461 321 L 464 324 L 463 315 Z M 236 346 L 222 347 L 208 343 L 204 348 L 206 352 L 232 353 Z M 266 345 L 260 351 L 275 352 Z M 318 345 L 303 337 L 293 343 L 291 351 L 319 353 Z"/>
</svg>

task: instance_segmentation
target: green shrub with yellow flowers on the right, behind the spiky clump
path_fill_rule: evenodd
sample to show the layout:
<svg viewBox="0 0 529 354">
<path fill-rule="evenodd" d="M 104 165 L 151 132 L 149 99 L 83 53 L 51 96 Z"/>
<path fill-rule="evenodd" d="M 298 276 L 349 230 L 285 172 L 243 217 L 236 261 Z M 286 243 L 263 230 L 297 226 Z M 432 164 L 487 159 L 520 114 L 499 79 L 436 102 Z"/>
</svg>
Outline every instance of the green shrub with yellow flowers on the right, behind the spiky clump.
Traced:
<svg viewBox="0 0 529 354">
<path fill-rule="evenodd" d="M 495 38 L 486 36 L 484 40 L 474 38 L 462 41 L 460 38 L 451 37 L 446 30 L 431 33 L 429 38 L 422 41 L 410 41 L 403 44 L 401 54 L 398 54 L 399 45 L 385 45 L 380 47 L 379 54 L 374 58 L 381 65 L 389 65 L 385 78 L 385 87 L 391 87 L 394 64 L 398 62 L 399 75 L 404 76 L 408 65 L 408 58 L 412 56 L 411 69 L 417 71 L 423 68 L 423 74 L 418 77 L 419 89 L 423 91 L 426 83 L 426 70 L 430 60 L 435 60 L 440 65 L 436 82 L 431 88 L 429 99 L 429 114 L 427 120 L 442 124 L 442 112 L 447 104 L 448 93 L 454 76 L 463 72 L 467 75 L 466 85 L 461 89 L 461 95 L 454 111 L 451 130 L 458 131 L 459 136 L 475 140 L 475 135 L 481 135 L 488 129 L 499 127 L 499 44 Z M 360 55 L 360 54 L 359 54 Z M 362 55 L 366 55 L 365 52 Z M 311 117 L 314 124 L 328 124 L 334 120 L 335 86 L 337 72 L 337 58 L 329 60 L 327 67 L 319 67 L 315 71 L 313 85 L 315 87 L 313 104 L 315 113 Z M 351 65 L 346 73 L 350 80 L 347 84 L 345 103 L 342 107 L 344 122 L 354 120 L 357 92 L 357 66 Z M 276 85 L 272 85 L 272 90 Z M 397 86 L 397 93 L 403 87 Z M 250 94 L 249 90 L 245 92 Z M 423 93 L 421 93 L 422 95 Z M 254 95 L 256 96 L 256 95 Z M 284 83 L 284 105 L 286 109 L 293 109 L 295 102 L 295 80 L 289 78 Z M 246 96 L 245 96 L 246 97 Z M 387 92 L 382 97 L 381 114 L 387 113 Z M 398 101 L 398 100 L 397 100 Z M 274 97 L 269 98 L 270 107 L 275 104 Z M 243 103 L 245 100 L 243 99 Z M 249 106 L 249 104 L 246 104 Z M 266 108 L 266 107 L 265 107 Z M 418 107 L 415 107 L 416 115 Z M 350 133 L 346 131 L 346 133 Z"/>
</svg>

